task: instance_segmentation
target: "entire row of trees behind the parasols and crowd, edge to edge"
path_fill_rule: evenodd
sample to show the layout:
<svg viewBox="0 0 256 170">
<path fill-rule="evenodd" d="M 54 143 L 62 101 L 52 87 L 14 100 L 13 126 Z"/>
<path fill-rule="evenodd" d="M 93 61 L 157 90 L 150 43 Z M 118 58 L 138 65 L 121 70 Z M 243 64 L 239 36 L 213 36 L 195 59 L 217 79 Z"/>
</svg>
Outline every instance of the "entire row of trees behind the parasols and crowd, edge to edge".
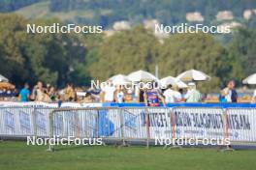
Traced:
<svg viewBox="0 0 256 170">
<path fill-rule="evenodd" d="M 240 80 L 256 68 L 256 31 L 241 28 L 223 46 L 208 34 L 175 34 L 159 42 L 139 25 L 111 37 L 83 34 L 27 34 L 26 24 L 50 25 L 58 19 L 26 20 L 0 14 L 0 73 L 17 85 L 37 80 L 64 86 L 88 85 L 113 74 L 159 67 L 160 78 L 190 69 L 212 78 L 200 84 L 203 92 L 222 88 L 229 79 Z"/>
</svg>

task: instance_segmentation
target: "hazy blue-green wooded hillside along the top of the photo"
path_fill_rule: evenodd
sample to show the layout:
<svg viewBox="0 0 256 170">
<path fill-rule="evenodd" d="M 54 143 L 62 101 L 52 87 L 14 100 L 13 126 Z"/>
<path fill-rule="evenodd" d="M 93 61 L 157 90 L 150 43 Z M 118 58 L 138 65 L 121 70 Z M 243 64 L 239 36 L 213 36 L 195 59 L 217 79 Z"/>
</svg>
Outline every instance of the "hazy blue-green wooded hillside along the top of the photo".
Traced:
<svg viewBox="0 0 256 170">
<path fill-rule="evenodd" d="M 210 23 L 219 11 L 232 11 L 240 17 L 244 10 L 256 8 L 253 0 L 50 0 L 52 12 L 67 12 L 74 10 L 92 10 L 95 14 L 91 20 L 104 26 L 112 25 L 117 20 L 141 22 L 144 19 L 156 18 L 164 24 L 185 22 L 185 14 L 200 12 Z M 101 11 L 111 13 L 101 14 Z M 100 15 L 98 15 L 100 14 Z"/>
</svg>

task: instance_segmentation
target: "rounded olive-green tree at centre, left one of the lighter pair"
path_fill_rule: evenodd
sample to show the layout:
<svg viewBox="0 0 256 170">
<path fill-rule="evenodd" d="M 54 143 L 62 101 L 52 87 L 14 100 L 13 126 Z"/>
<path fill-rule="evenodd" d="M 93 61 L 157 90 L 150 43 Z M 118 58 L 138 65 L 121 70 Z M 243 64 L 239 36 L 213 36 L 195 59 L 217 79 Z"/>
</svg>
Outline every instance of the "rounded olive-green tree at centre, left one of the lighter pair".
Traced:
<svg viewBox="0 0 256 170">
<path fill-rule="evenodd" d="M 89 68 L 94 78 L 106 80 L 116 73 L 153 71 L 159 42 L 151 32 L 138 26 L 107 38 L 98 51 L 97 62 Z"/>
</svg>

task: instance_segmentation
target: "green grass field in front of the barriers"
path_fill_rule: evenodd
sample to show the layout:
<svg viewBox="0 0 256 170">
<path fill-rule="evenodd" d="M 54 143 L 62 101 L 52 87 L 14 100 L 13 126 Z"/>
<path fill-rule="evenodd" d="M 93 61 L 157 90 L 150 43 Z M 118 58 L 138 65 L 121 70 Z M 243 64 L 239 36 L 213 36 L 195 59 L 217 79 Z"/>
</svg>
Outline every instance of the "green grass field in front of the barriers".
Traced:
<svg viewBox="0 0 256 170">
<path fill-rule="evenodd" d="M 160 147 L 114 148 L 26 146 L 25 142 L 0 142 L 0 170 L 73 169 L 178 169 L 178 170 L 252 170 L 256 151 L 218 152 L 215 149 L 163 150 Z"/>
</svg>

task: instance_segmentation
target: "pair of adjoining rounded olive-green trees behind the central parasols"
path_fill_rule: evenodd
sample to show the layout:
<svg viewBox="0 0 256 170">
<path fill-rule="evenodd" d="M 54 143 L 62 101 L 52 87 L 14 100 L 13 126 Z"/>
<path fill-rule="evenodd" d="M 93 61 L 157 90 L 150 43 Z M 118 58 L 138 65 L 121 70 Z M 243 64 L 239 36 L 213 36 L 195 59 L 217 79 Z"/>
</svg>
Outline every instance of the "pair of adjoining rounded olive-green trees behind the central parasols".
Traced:
<svg viewBox="0 0 256 170">
<path fill-rule="evenodd" d="M 222 86 L 221 79 L 232 69 L 227 50 L 203 33 L 176 34 L 161 44 L 150 31 L 137 27 L 107 39 L 98 55 L 98 61 L 91 66 L 92 77 L 106 79 L 136 70 L 154 72 L 155 65 L 161 77 L 196 69 L 212 76 L 203 90 Z"/>
</svg>

